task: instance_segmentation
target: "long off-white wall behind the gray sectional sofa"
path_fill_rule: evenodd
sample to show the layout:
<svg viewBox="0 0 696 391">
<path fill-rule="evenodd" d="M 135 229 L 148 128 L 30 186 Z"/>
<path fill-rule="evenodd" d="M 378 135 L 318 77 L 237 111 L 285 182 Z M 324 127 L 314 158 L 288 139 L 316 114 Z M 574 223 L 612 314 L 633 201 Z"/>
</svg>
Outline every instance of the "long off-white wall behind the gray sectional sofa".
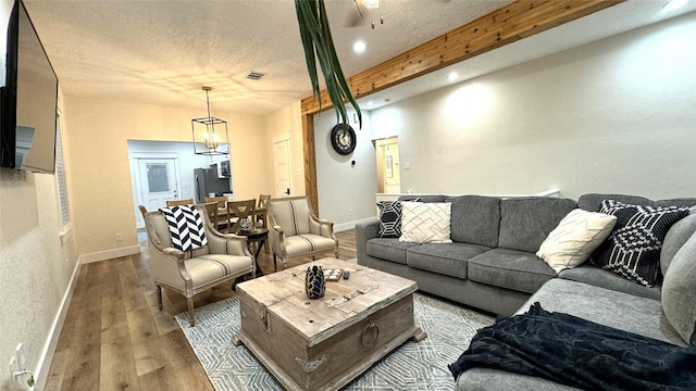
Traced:
<svg viewBox="0 0 696 391">
<path fill-rule="evenodd" d="M 398 133 L 402 191 L 694 197 L 694 64 L 691 13 L 375 110 L 372 128 Z"/>
</svg>

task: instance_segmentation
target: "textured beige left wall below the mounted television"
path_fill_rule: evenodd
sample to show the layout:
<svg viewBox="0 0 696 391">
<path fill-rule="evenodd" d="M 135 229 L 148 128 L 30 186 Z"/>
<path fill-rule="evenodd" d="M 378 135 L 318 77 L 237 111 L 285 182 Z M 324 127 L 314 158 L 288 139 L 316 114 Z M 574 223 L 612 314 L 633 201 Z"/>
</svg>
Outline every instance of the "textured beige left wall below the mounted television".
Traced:
<svg viewBox="0 0 696 391">
<path fill-rule="evenodd" d="M 75 232 L 69 229 L 61 240 L 62 230 L 55 176 L 0 168 L 0 360 L 9 370 L 23 343 L 26 368 L 38 381 L 47 376 L 51 332 L 70 305 L 62 306 L 77 272 Z M 26 390 L 17 384 L 0 377 L 2 390 Z"/>
</svg>

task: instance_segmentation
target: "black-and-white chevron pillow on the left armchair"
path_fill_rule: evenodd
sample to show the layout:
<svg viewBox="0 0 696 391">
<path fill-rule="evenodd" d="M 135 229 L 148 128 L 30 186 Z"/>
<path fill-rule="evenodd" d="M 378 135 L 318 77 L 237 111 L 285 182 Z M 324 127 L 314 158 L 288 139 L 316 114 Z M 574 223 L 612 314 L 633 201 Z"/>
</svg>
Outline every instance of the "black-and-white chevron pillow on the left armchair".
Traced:
<svg viewBox="0 0 696 391">
<path fill-rule="evenodd" d="M 174 249 L 191 251 L 208 244 L 203 218 L 194 205 L 162 207 L 160 212 L 169 225 Z"/>
</svg>

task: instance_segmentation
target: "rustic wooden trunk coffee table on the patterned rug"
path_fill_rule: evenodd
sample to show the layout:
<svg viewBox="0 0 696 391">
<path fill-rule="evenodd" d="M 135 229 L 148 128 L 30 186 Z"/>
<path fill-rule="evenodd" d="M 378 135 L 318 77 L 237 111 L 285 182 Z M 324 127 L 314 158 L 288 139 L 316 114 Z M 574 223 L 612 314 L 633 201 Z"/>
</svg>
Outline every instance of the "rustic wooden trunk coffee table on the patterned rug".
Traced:
<svg viewBox="0 0 696 391">
<path fill-rule="evenodd" d="M 313 265 L 350 272 L 326 282 L 323 298 L 304 294 Z M 244 343 L 288 390 L 337 390 L 409 339 L 415 281 L 336 258 L 324 258 L 239 283 Z"/>
</svg>

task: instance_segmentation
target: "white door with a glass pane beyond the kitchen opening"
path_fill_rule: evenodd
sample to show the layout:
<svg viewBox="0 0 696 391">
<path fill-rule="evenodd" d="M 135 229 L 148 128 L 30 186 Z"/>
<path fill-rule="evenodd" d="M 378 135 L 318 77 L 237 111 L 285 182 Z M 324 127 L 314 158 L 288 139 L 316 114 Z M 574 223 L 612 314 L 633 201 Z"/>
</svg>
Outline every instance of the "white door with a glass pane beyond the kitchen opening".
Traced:
<svg viewBox="0 0 696 391">
<path fill-rule="evenodd" d="M 140 200 L 148 211 L 166 206 L 166 200 L 178 200 L 176 159 L 138 159 Z"/>
</svg>

